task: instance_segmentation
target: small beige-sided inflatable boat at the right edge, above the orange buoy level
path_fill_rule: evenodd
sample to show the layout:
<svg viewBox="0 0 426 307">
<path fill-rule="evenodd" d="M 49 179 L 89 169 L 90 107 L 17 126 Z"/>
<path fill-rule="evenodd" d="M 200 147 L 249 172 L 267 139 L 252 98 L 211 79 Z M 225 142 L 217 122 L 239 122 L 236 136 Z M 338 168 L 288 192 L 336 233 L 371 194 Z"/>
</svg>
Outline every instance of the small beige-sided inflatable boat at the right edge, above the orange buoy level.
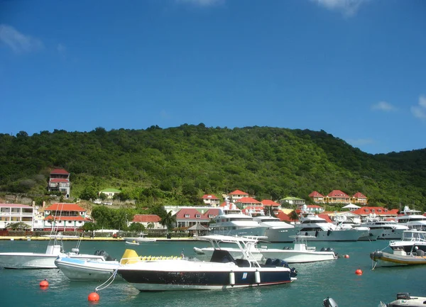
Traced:
<svg viewBox="0 0 426 307">
<path fill-rule="evenodd" d="M 374 267 L 376 267 L 376 264 L 386 267 L 394 265 L 426 264 L 425 252 L 422 250 L 409 253 L 405 252 L 402 248 L 395 248 L 393 253 L 376 250 L 370 253 L 370 258 L 375 262 Z"/>
</svg>

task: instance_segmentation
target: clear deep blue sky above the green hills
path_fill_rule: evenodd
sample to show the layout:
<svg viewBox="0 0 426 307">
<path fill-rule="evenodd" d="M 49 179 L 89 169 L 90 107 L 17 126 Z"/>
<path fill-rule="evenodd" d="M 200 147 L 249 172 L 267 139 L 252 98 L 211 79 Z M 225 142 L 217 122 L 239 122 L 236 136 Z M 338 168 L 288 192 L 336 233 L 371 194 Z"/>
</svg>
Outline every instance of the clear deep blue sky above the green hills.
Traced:
<svg viewBox="0 0 426 307">
<path fill-rule="evenodd" d="M 0 0 L 0 133 L 270 126 L 426 147 L 426 1 Z"/>
</svg>

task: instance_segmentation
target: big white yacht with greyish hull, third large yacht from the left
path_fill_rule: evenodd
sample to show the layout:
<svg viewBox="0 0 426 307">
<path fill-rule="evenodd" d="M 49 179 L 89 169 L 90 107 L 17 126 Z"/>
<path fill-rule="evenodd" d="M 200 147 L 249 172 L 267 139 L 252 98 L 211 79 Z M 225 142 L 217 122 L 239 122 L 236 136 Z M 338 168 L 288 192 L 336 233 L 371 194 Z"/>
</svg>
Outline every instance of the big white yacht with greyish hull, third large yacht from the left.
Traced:
<svg viewBox="0 0 426 307">
<path fill-rule="evenodd" d="M 300 224 L 295 225 L 296 235 L 305 235 L 309 241 L 357 241 L 360 237 L 368 235 L 368 230 L 339 229 L 337 225 L 327 222 L 315 213 L 305 213 L 300 218 Z"/>
</svg>

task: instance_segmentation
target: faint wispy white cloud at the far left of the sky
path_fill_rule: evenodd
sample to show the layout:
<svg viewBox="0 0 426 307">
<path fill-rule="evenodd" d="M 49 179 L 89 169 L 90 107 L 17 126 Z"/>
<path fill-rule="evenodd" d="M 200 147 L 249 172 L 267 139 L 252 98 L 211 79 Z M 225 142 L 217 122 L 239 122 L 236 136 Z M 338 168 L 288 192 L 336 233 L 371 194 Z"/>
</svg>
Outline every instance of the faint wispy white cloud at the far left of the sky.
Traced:
<svg viewBox="0 0 426 307">
<path fill-rule="evenodd" d="M 16 53 L 37 51 L 44 47 L 42 41 L 38 38 L 24 35 L 16 28 L 4 24 L 0 25 L 0 41 Z"/>
</svg>

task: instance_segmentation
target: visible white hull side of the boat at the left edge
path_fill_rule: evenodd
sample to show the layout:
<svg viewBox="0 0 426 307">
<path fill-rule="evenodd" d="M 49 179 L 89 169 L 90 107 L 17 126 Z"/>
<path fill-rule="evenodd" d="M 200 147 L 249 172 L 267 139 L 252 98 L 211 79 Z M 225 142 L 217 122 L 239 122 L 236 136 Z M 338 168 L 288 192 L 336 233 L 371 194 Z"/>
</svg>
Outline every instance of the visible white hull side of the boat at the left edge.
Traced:
<svg viewBox="0 0 426 307">
<path fill-rule="evenodd" d="M 1 252 L 0 267 L 6 269 L 56 269 L 58 255 L 35 252 Z"/>
</svg>

